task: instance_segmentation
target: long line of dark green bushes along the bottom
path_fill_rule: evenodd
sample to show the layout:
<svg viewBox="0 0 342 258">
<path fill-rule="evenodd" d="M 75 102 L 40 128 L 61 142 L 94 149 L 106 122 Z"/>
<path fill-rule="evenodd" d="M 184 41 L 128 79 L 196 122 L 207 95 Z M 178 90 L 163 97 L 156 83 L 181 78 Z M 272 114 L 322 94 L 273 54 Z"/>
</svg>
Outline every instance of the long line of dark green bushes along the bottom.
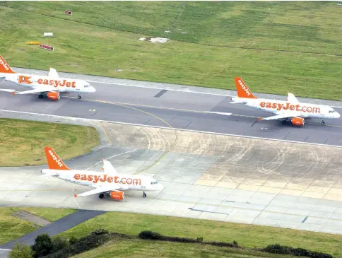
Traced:
<svg viewBox="0 0 342 258">
<path fill-rule="evenodd" d="M 217 247 L 230 247 L 235 249 L 245 249 L 259 252 L 269 252 L 271 254 L 289 254 L 293 256 L 309 257 L 309 258 L 334 258 L 331 254 L 322 252 L 314 252 L 303 248 L 293 248 L 282 246 L 279 244 L 268 245 L 261 249 L 248 249 L 233 242 L 204 242 L 203 238 L 179 238 L 161 235 L 150 230 L 141 231 L 138 236 L 126 235 L 121 233 L 110 233 L 104 229 L 98 229 L 83 238 L 71 237 L 69 240 L 55 237 L 50 238 L 47 234 L 38 235 L 35 239 L 34 245 L 16 244 L 13 250 L 8 254 L 9 258 L 29 257 L 29 258 L 67 258 L 76 254 L 81 254 L 101 245 L 106 242 L 120 239 L 134 239 L 140 238 L 142 240 L 157 240 L 168 242 L 182 242 L 182 243 L 196 243 L 199 245 L 214 245 Z"/>
</svg>

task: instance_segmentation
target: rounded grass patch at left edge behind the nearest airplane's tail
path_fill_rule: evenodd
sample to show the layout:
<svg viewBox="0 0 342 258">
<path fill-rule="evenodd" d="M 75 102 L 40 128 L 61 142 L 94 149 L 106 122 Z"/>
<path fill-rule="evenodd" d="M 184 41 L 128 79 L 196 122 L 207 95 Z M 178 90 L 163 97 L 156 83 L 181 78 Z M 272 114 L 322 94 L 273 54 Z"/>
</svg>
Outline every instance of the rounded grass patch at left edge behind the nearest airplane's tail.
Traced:
<svg viewBox="0 0 342 258">
<path fill-rule="evenodd" d="M 67 160 L 89 153 L 100 138 L 94 127 L 0 119 L 0 166 L 46 164 L 45 146 Z"/>
</svg>

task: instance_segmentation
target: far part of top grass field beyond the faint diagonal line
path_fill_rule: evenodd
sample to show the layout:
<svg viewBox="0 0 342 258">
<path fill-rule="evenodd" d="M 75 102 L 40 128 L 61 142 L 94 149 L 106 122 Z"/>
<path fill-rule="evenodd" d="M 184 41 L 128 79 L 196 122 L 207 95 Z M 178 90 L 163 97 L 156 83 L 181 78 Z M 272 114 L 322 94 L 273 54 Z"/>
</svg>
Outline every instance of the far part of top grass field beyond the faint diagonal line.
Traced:
<svg viewBox="0 0 342 258">
<path fill-rule="evenodd" d="M 336 2 L 8 1 L 4 6 L 198 44 L 342 54 L 342 6 Z"/>
</svg>

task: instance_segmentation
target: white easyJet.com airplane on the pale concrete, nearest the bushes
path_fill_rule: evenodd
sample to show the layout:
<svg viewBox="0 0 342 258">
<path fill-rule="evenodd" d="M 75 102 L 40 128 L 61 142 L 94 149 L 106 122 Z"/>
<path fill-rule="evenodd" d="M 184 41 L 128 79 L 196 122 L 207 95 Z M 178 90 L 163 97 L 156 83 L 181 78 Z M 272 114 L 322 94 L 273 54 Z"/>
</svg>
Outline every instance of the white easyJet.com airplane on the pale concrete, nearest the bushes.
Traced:
<svg viewBox="0 0 342 258">
<path fill-rule="evenodd" d="M 82 194 L 73 194 L 76 197 L 86 197 L 92 194 L 100 194 L 99 198 L 108 196 L 112 199 L 123 200 L 124 191 L 135 190 L 145 192 L 155 192 L 164 189 L 153 177 L 144 175 L 124 175 L 118 174 L 117 170 L 108 160 L 103 160 L 103 172 L 94 172 L 88 170 L 71 170 L 66 167 L 63 160 L 50 147 L 45 147 L 45 156 L 47 157 L 48 169 L 43 169 L 43 175 L 40 177 L 56 177 L 66 182 L 80 184 L 95 189 Z"/>
</svg>

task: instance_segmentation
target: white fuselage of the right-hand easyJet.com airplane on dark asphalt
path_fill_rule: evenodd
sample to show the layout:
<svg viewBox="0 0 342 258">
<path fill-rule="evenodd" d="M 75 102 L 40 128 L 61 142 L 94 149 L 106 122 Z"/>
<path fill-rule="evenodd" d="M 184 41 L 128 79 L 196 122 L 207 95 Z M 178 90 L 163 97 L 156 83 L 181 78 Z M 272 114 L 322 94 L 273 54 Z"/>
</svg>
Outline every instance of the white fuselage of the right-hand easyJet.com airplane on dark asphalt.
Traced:
<svg viewBox="0 0 342 258">
<path fill-rule="evenodd" d="M 303 102 L 288 102 L 284 100 L 270 100 L 264 98 L 232 98 L 233 101 L 241 101 L 243 105 L 252 107 L 256 110 L 279 114 L 281 112 L 298 112 L 303 118 L 321 118 L 333 119 L 338 118 L 338 112 L 335 112 L 327 105 L 316 105 Z"/>
</svg>

